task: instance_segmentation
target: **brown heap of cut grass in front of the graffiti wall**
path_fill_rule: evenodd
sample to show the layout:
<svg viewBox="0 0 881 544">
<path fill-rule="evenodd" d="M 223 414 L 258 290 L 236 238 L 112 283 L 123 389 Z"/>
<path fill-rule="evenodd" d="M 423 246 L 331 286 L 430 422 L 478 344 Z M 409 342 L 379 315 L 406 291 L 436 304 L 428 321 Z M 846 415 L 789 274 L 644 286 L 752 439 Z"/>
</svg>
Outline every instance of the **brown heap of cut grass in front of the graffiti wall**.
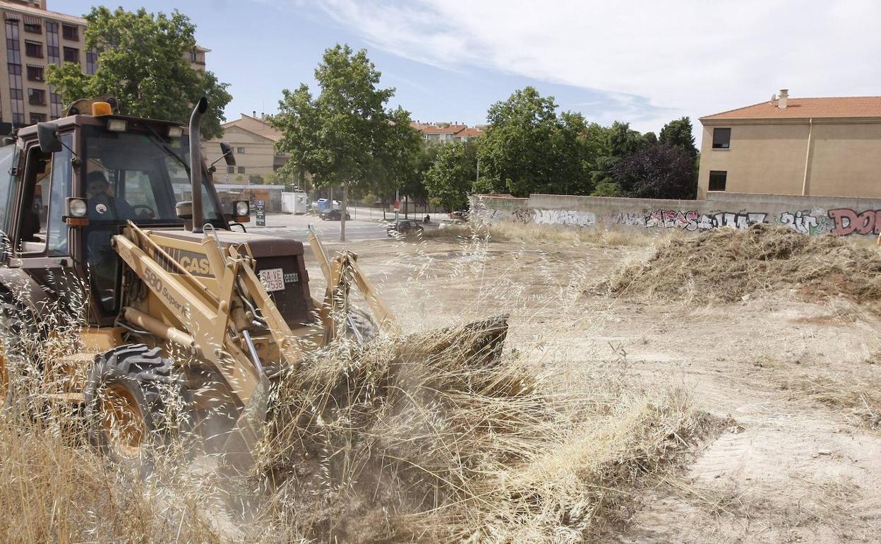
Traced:
<svg viewBox="0 0 881 544">
<path fill-rule="evenodd" d="M 778 287 L 807 298 L 843 295 L 881 300 L 881 253 L 868 244 L 808 236 L 756 224 L 670 238 L 647 262 L 626 265 L 602 287 L 612 294 L 649 294 L 670 300 L 732 302 Z"/>
</svg>

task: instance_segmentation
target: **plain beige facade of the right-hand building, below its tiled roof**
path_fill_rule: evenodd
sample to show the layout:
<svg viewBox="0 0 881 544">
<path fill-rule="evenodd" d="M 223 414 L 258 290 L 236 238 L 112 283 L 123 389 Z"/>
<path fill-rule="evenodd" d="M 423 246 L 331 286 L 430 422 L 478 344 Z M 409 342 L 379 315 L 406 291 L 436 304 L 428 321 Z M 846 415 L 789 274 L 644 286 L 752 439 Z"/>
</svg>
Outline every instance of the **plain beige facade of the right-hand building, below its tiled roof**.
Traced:
<svg viewBox="0 0 881 544">
<path fill-rule="evenodd" d="M 710 170 L 728 173 L 732 193 L 881 198 L 881 119 L 704 123 L 698 198 Z M 716 128 L 731 129 L 729 149 L 713 149 Z"/>
</svg>

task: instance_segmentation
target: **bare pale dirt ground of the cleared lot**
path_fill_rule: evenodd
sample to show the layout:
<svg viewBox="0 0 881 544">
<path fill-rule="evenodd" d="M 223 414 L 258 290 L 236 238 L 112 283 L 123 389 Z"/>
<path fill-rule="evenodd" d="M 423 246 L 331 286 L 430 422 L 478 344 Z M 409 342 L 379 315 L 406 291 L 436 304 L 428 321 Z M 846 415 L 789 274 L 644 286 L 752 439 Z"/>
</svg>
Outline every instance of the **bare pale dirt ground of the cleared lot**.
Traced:
<svg viewBox="0 0 881 544">
<path fill-rule="evenodd" d="M 405 331 L 508 312 L 510 348 L 547 333 L 549 344 L 585 361 L 624 358 L 645 384 L 682 385 L 696 406 L 727 421 L 682 470 L 646 479 L 629 522 L 602 540 L 881 540 L 877 424 L 859 406 L 824 404 L 785 385 L 819 375 L 881 384 L 876 311 L 842 299 L 805 302 L 792 290 L 707 306 L 592 288 L 621 263 L 647 257 L 645 244 L 348 247 Z M 315 262 L 307 265 L 322 277 Z"/>
</svg>

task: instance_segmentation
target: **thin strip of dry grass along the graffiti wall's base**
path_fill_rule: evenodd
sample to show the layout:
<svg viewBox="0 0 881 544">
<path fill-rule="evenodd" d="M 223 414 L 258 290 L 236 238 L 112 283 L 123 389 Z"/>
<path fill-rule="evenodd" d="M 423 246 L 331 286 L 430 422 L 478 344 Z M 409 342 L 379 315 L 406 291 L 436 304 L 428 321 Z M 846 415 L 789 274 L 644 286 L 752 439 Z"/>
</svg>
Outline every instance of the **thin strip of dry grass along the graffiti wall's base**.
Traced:
<svg viewBox="0 0 881 544">
<path fill-rule="evenodd" d="M 633 229 L 624 232 L 602 227 L 574 228 L 553 225 L 535 225 L 500 221 L 484 223 L 471 220 L 460 225 L 445 225 L 443 228 L 426 230 L 426 238 L 480 238 L 498 242 L 527 242 L 537 244 L 557 244 L 573 246 L 590 244 L 601 247 L 621 247 L 642 245 L 651 242 L 652 237 L 645 232 Z"/>
</svg>

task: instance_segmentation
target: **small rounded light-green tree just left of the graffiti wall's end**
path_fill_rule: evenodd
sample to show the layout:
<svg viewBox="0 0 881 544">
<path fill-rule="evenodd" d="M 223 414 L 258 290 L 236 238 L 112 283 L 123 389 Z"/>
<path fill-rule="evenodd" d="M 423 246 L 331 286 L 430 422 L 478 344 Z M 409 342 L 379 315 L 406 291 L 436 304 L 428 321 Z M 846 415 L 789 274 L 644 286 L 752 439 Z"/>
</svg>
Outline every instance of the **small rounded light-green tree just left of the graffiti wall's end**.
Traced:
<svg viewBox="0 0 881 544">
<path fill-rule="evenodd" d="M 449 212 L 467 207 L 477 162 L 477 146 L 473 142 L 441 145 L 431 168 L 426 171 L 428 194 Z"/>
</svg>

